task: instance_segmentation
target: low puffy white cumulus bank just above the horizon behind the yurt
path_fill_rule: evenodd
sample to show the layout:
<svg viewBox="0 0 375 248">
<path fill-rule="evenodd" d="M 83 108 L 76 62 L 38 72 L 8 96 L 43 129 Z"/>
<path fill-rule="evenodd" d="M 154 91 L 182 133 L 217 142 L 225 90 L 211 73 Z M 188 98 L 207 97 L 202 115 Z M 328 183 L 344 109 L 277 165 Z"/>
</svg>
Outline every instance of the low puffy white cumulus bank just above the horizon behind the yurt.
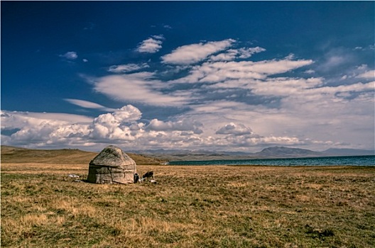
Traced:
<svg viewBox="0 0 375 248">
<path fill-rule="evenodd" d="M 96 118 L 69 115 L 56 119 L 56 115 L 2 111 L 3 130 L 17 129 L 13 134 L 2 135 L 3 145 L 28 145 L 30 147 L 96 147 L 103 144 L 118 144 L 131 149 L 162 148 L 204 148 L 224 149 L 228 145 L 254 146 L 266 140 L 273 143 L 303 141 L 291 137 L 261 137 L 241 123 L 228 123 L 216 130 L 217 137 L 204 135 L 204 125 L 190 118 L 141 122 L 141 111 L 127 105 L 112 113 Z"/>
</svg>

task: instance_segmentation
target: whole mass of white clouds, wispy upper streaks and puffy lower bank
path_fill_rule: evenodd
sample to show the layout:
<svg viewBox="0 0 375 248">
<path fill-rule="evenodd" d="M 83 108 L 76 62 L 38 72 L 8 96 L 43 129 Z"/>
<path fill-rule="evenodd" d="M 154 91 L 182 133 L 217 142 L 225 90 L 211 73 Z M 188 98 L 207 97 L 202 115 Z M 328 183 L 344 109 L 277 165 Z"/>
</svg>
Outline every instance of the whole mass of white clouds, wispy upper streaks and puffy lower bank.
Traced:
<svg viewBox="0 0 375 248">
<path fill-rule="evenodd" d="M 136 51 L 151 56 L 147 54 L 160 51 L 164 39 L 153 35 Z M 2 143 L 243 152 L 272 145 L 374 147 L 374 69 L 354 64 L 328 78 L 330 70 L 348 64 L 354 55 L 330 51 L 320 61 L 297 59 L 292 53 L 253 60 L 261 52 L 266 48 L 240 47 L 227 39 L 182 45 L 157 62 L 142 58 L 108 65 L 106 74 L 87 82 L 122 108 L 65 98 L 76 108 L 102 114 L 2 111 Z M 60 57 L 75 60 L 77 54 Z M 147 120 L 141 109 L 147 110 Z"/>
</svg>

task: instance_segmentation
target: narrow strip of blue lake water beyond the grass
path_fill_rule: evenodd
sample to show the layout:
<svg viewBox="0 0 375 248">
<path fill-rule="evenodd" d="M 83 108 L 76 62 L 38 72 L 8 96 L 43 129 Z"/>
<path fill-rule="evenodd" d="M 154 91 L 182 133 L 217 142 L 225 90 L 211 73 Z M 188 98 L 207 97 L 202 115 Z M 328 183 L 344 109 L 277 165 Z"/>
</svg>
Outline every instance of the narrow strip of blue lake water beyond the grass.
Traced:
<svg viewBox="0 0 375 248">
<path fill-rule="evenodd" d="M 268 165 L 268 166 L 375 166 L 375 155 L 347 157 L 303 157 L 288 159 L 238 159 L 210 161 L 170 161 L 169 165 Z"/>
</svg>

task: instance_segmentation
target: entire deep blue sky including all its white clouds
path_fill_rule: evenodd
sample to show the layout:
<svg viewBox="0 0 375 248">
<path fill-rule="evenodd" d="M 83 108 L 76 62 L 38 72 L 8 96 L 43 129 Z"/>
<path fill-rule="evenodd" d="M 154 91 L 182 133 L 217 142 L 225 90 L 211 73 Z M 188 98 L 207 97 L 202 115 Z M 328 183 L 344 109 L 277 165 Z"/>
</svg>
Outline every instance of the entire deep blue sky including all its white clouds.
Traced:
<svg viewBox="0 0 375 248">
<path fill-rule="evenodd" d="M 374 150 L 374 1 L 1 1 L 1 145 Z"/>
</svg>

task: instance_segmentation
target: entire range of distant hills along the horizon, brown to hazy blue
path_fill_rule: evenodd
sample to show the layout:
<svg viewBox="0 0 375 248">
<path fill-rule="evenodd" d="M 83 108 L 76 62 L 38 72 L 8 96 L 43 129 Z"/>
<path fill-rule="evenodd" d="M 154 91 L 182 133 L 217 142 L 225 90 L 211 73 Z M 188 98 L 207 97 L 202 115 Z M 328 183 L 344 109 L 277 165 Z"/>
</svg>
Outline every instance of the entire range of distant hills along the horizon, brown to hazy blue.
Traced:
<svg viewBox="0 0 375 248">
<path fill-rule="evenodd" d="M 374 155 L 374 151 L 331 148 L 323 152 L 314 152 L 300 148 L 268 147 L 256 153 L 212 152 L 205 150 L 145 150 L 126 152 L 126 154 L 134 159 L 137 164 L 163 164 L 166 161 L 360 156 Z M 1 145 L 1 162 L 10 164 L 89 164 L 96 155 L 97 152 L 85 152 L 77 149 L 34 150 Z"/>
</svg>

